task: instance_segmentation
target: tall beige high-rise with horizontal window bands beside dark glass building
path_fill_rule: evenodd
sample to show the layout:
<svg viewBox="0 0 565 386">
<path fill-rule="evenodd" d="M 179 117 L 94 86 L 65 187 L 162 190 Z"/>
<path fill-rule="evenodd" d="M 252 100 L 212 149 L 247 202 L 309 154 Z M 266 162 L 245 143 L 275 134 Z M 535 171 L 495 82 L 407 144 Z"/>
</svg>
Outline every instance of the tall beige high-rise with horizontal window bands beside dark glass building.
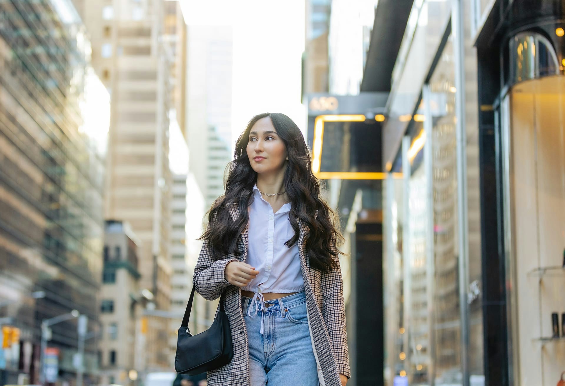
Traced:
<svg viewBox="0 0 565 386">
<path fill-rule="evenodd" d="M 164 38 L 165 3 L 82 4 L 93 66 L 111 93 L 104 214 L 127 221 L 140 238 L 139 285 L 154 294 L 159 310 L 168 310 L 171 296 L 168 132 L 175 59 Z M 145 370 L 169 370 L 171 353 L 162 344 L 168 340 L 168 320 L 152 316 L 147 323 Z"/>
</svg>

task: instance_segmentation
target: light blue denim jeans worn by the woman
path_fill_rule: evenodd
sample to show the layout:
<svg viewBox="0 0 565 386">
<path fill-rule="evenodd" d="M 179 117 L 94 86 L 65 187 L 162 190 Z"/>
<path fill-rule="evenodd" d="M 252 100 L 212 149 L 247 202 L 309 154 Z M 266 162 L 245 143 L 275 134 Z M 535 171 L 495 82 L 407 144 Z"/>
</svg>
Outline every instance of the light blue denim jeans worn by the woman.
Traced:
<svg viewBox="0 0 565 386">
<path fill-rule="evenodd" d="M 249 339 L 252 386 L 318 386 L 318 367 L 312 350 L 304 291 L 263 302 L 263 310 L 249 316 L 257 305 L 241 297 Z M 260 333 L 263 318 L 263 334 Z"/>
</svg>

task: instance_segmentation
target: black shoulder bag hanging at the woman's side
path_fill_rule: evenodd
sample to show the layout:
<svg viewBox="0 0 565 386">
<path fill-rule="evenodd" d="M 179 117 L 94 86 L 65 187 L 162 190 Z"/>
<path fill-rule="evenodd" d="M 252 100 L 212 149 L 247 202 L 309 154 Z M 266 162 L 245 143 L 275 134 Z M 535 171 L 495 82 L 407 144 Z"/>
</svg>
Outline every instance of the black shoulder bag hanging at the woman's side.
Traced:
<svg viewBox="0 0 565 386">
<path fill-rule="evenodd" d="M 206 331 L 192 335 L 188 329 L 194 286 L 182 318 L 177 340 L 175 370 L 179 374 L 197 375 L 227 365 L 233 358 L 232 333 L 224 310 L 225 291 L 220 297 L 220 310 Z"/>
</svg>

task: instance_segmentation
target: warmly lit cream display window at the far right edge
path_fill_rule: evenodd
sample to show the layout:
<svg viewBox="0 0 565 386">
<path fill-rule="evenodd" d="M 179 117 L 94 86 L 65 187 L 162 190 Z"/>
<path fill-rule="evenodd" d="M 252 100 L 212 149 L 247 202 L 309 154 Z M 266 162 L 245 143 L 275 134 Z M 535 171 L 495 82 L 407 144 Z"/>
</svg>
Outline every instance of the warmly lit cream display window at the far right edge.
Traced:
<svg viewBox="0 0 565 386">
<path fill-rule="evenodd" d="M 564 94 L 565 77 L 542 77 L 512 86 L 501 106 L 516 384 L 555 383 L 565 363 L 565 346 L 559 341 L 565 310 Z"/>
</svg>

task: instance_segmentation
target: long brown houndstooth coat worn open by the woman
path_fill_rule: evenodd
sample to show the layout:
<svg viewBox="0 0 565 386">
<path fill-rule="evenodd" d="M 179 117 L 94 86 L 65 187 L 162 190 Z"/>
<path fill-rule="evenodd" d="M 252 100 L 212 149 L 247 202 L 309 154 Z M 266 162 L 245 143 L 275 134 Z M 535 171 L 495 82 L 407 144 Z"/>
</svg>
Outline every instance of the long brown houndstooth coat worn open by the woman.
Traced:
<svg viewBox="0 0 565 386">
<path fill-rule="evenodd" d="M 236 205 L 231 205 L 229 211 L 233 220 L 240 215 Z M 334 268 L 322 274 L 319 270 L 310 267 L 303 242 L 309 228 L 300 221 L 298 225 L 300 229 L 298 250 L 312 341 L 314 341 L 325 385 L 341 386 L 339 374 L 350 377 L 341 270 L 338 266 L 337 269 Z M 229 284 L 224 277 L 225 266 L 229 262 L 245 262 L 248 242 L 249 235 L 246 227 L 237 242 L 242 254 L 238 256 L 228 254 L 223 259 L 212 261 L 208 242 L 205 241 L 194 268 L 193 285 L 204 298 L 215 300 L 220 297 L 223 290 L 226 290 L 224 308 L 232 331 L 233 359 L 228 365 L 208 372 L 208 386 L 251 386 L 249 341 L 247 341 L 244 315 L 241 310 L 241 288 Z M 335 240 L 331 242 L 335 246 Z"/>
</svg>

